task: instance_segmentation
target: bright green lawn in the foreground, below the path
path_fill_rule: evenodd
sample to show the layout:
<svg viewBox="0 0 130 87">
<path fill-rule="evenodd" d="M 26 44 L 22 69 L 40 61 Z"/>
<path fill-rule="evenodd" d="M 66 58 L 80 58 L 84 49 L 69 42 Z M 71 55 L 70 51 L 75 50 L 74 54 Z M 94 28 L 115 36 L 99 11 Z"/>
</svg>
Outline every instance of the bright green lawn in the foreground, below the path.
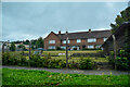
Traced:
<svg viewBox="0 0 130 87">
<path fill-rule="evenodd" d="M 3 85 L 128 85 L 130 75 L 62 74 L 35 70 L 2 70 Z M 127 87 L 127 86 L 125 86 Z"/>
</svg>

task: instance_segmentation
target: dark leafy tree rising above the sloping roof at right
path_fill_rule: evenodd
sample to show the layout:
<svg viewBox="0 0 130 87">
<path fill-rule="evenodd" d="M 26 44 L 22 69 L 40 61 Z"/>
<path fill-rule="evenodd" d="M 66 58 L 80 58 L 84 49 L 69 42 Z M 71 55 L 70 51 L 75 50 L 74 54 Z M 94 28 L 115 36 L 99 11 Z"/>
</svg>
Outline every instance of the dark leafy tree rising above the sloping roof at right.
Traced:
<svg viewBox="0 0 130 87">
<path fill-rule="evenodd" d="M 114 33 L 123 22 L 130 21 L 130 7 L 120 12 L 120 15 L 117 15 L 115 24 L 110 23 L 112 33 Z"/>
</svg>

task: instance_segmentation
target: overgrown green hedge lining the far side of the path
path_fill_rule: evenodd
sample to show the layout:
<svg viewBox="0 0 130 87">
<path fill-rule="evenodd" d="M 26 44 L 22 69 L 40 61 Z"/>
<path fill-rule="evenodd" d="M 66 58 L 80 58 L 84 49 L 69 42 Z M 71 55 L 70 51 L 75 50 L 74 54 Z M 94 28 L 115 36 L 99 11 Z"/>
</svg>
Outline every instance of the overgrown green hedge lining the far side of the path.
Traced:
<svg viewBox="0 0 130 87">
<path fill-rule="evenodd" d="M 51 59 L 51 54 L 40 57 L 39 54 L 31 54 L 30 59 L 26 59 L 26 55 L 20 52 L 4 52 L 2 55 L 3 65 L 20 65 L 20 66 L 31 66 L 31 67 L 49 67 L 49 69 L 63 69 L 66 66 L 66 61 L 62 59 Z M 90 59 L 81 59 L 80 63 L 74 61 L 69 63 L 69 69 L 93 69 L 93 62 Z"/>
</svg>

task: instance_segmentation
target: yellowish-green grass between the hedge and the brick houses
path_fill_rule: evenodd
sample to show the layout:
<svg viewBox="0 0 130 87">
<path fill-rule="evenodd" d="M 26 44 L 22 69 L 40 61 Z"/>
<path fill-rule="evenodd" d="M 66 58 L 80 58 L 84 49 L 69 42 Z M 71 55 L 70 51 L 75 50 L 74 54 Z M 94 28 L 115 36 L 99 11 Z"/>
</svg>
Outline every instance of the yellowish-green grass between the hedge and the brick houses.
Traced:
<svg viewBox="0 0 130 87">
<path fill-rule="evenodd" d="M 18 52 L 21 52 L 21 51 L 18 51 Z M 18 53 L 17 52 L 17 53 Z M 31 53 L 32 53 L 34 51 L 31 51 Z M 68 53 L 69 54 L 73 54 L 73 53 L 96 53 L 96 52 L 101 52 L 101 50 L 84 50 L 84 51 L 82 51 L 82 50 L 79 50 L 79 51 L 68 51 Z M 12 52 L 12 53 L 14 53 L 14 52 Z M 28 53 L 28 51 L 25 51 L 25 53 Z M 65 55 L 65 51 L 43 51 L 43 53 L 42 54 L 44 54 L 44 55 L 47 55 L 47 54 L 51 54 L 51 55 L 58 55 L 58 53 L 64 53 L 63 55 L 60 55 L 60 57 L 51 57 L 51 59 L 61 59 L 61 60 L 66 60 L 66 55 Z M 80 60 L 80 57 L 79 58 L 76 58 L 76 57 L 69 57 L 68 55 L 68 58 L 69 58 L 69 60 L 68 60 L 68 62 L 79 62 L 79 60 Z M 86 57 L 86 58 L 83 58 L 83 59 L 88 59 L 88 58 L 90 58 L 90 57 Z M 28 57 L 26 57 L 26 59 L 29 59 Z M 92 61 L 94 61 L 94 62 L 108 62 L 108 59 L 106 59 L 106 58 L 98 58 L 98 59 L 95 59 L 95 58 L 90 58 L 90 59 L 92 59 Z"/>
</svg>

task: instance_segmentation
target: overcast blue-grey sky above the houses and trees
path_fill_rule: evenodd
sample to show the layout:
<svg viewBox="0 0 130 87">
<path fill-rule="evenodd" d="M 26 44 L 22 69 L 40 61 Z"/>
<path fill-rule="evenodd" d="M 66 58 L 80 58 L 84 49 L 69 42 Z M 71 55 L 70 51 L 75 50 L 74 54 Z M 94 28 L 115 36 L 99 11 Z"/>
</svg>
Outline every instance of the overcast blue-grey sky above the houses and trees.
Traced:
<svg viewBox="0 0 130 87">
<path fill-rule="evenodd" d="M 46 37 L 50 32 L 110 29 L 127 2 L 3 2 L 2 39 Z"/>
</svg>

